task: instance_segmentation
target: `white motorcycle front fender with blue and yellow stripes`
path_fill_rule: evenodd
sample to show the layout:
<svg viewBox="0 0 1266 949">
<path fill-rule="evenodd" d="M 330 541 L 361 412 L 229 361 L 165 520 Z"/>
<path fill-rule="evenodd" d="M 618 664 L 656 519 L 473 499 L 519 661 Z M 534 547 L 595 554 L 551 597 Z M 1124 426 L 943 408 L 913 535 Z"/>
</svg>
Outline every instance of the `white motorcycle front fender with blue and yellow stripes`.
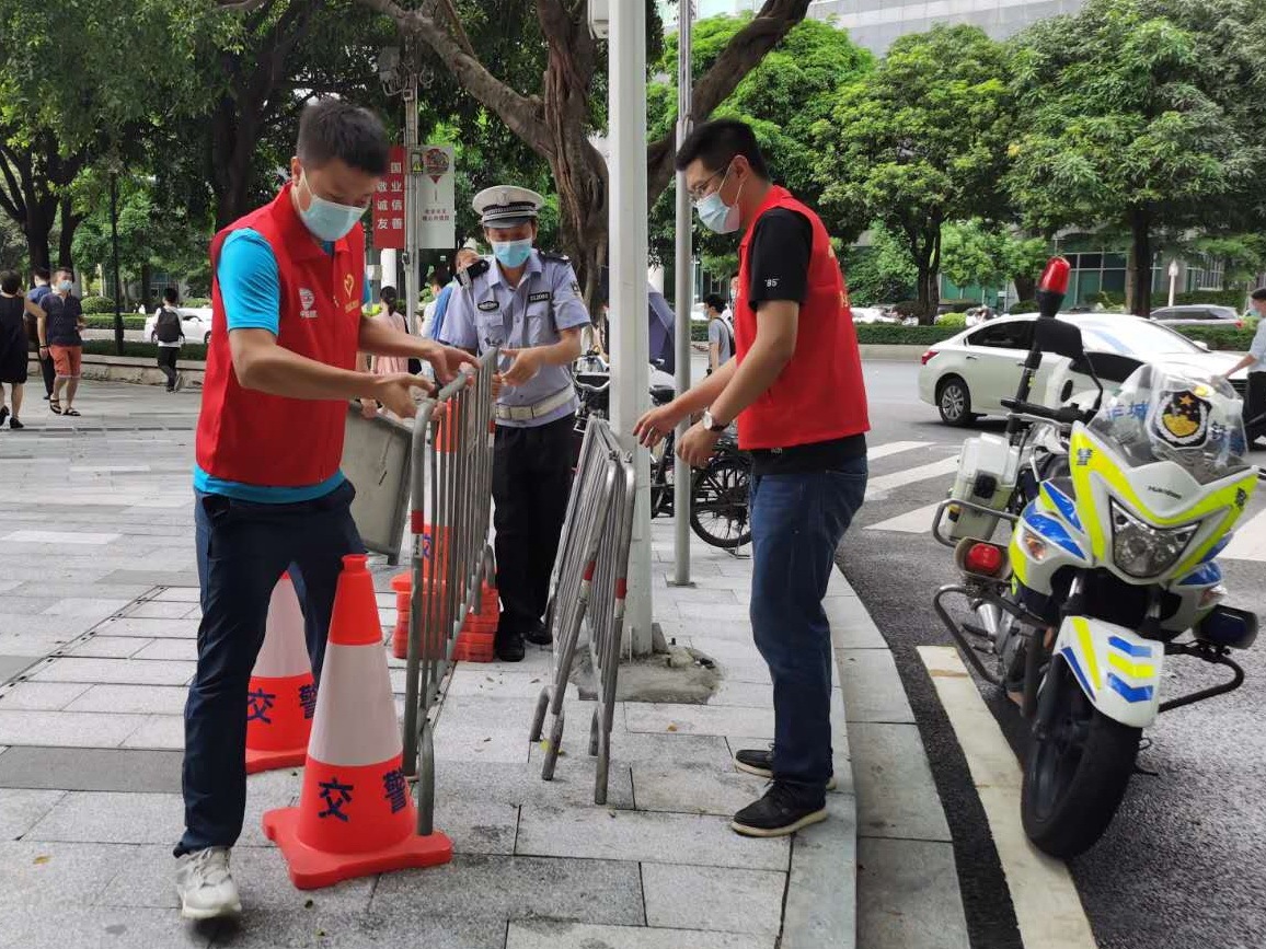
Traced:
<svg viewBox="0 0 1266 949">
<path fill-rule="evenodd" d="M 1055 655 L 1069 664 L 1091 705 L 1109 719 L 1139 729 L 1156 721 L 1163 643 L 1103 620 L 1067 616 L 1055 640 Z"/>
</svg>

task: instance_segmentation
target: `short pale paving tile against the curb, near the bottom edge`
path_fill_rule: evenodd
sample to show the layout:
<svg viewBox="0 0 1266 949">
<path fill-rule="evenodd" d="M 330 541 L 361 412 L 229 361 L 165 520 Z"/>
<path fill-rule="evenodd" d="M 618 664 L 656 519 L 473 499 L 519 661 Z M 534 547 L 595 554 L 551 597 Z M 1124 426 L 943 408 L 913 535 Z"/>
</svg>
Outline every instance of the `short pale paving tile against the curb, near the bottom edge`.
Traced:
<svg viewBox="0 0 1266 949">
<path fill-rule="evenodd" d="M 776 936 L 782 927 L 786 879 L 777 871 L 643 863 L 646 921 Z"/>
</svg>

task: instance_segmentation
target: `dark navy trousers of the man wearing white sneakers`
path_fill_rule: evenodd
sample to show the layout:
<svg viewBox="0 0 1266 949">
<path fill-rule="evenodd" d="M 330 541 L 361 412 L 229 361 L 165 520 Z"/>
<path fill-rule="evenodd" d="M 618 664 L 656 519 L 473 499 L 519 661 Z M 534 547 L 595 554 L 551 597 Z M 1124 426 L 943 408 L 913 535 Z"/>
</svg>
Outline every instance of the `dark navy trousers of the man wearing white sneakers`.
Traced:
<svg viewBox="0 0 1266 949">
<path fill-rule="evenodd" d="M 344 482 L 299 504 L 251 504 L 199 493 L 194 523 L 203 623 L 197 674 L 185 704 L 185 834 L 176 855 L 232 847 L 246 816 L 246 719 L 251 671 L 281 574 L 303 605 L 319 679 L 343 555 L 363 553 Z"/>
</svg>

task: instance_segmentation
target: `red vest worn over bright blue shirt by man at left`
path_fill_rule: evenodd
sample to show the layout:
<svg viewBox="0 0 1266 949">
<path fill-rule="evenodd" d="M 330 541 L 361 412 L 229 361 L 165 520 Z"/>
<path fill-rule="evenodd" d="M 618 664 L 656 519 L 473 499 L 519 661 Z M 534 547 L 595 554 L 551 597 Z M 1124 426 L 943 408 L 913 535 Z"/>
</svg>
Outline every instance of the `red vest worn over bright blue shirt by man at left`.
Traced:
<svg viewBox="0 0 1266 949">
<path fill-rule="evenodd" d="M 356 367 L 365 280 L 360 225 L 328 254 L 299 219 L 287 183 L 272 204 L 234 221 L 211 242 L 215 275 L 225 238 L 242 228 L 263 235 L 277 258 L 281 321 L 277 343 L 343 369 Z M 218 277 L 211 281 L 211 343 L 206 353 L 197 466 L 228 481 L 268 487 L 315 485 L 343 457 L 344 400 L 286 399 L 243 388 L 233 371 Z"/>
</svg>

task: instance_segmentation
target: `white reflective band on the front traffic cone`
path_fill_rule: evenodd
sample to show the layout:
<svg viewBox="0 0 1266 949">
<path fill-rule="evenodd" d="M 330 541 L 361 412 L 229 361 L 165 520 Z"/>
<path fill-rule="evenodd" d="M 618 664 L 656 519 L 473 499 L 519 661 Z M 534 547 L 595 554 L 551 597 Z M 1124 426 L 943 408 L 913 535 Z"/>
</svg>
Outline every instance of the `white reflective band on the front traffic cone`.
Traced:
<svg viewBox="0 0 1266 949">
<path fill-rule="evenodd" d="M 349 767 L 400 754 L 391 677 L 380 644 L 325 647 L 308 754 L 325 764 Z"/>
</svg>

